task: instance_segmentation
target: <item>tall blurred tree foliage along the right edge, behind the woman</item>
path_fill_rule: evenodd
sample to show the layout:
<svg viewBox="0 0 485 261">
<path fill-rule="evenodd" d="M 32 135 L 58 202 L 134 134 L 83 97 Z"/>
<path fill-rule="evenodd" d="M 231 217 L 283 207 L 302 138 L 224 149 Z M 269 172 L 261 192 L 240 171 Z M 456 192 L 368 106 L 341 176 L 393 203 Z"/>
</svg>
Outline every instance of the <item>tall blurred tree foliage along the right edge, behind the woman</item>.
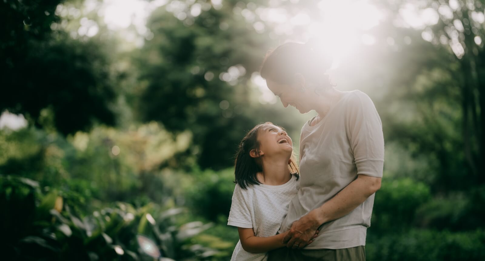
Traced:
<svg viewBox="0 0 485 261">
<path fill-rule="evenodd" d="M 436 10 L 436 24 L 394 33 L 389 30 L 393 37 L 406 35 L 412 44 L 398 46 L 402 51 L 391 52 L 389 60 L 383 61 L 399 61 L 399 68 L 386 70 L 384 76 L 396 91 L 387 95 L 387 103 L 391 100 L 394 107 L 385 116 L 388 133 L 407 144 L 416 156 L 429 156 L 435 162 L 439 177 L 433 190 L 466 190 L 485 182 L 479 174 L 485 158 L 484 28 L 475 11 L 483 9 L 483 1 L 420 3 L 419 9 Z M 392 11 L 391 17 L 398 17 L 408 1 L 380 4 Z M 403 120 L 396 116 L 402 112 L 411 115 Z M 469 179 L 461 179 L 463 176 Z"/>
</svg>

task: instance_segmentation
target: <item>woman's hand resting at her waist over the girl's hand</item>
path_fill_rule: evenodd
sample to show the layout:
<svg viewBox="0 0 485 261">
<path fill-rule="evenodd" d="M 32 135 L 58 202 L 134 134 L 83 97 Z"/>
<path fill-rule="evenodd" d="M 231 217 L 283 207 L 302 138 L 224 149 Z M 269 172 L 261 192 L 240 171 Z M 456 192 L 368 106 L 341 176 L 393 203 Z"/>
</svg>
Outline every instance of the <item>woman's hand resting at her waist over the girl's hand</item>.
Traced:
<svg viewBox="0 0 485 261">
<path fill-rule="evenodd" d="M 283 238 L 283 244 L 293 249 L 302 249 L 312 242 L 312 239 L 318 235 L 320 224 L 314 218 L 315 212 L 311 211 L 293 222 L 291 229 L 288 230 Z"/>
</svg>

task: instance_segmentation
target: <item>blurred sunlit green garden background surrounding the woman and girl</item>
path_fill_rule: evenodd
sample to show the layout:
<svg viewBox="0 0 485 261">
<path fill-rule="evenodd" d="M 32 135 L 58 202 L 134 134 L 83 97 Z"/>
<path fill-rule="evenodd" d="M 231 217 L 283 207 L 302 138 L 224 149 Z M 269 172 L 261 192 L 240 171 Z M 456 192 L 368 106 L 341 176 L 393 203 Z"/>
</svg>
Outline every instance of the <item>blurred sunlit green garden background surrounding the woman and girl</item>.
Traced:
<svg viewBox="0 0 485 261">
<path fill-rule="evenodd" d="M 485 260 L 485 3 L 0 1 L 2 260 L 229 260 L 233 156 L 313 114 L 259 76 L 318 38 L 386 141 L 368 260 Z"/>
</svg>

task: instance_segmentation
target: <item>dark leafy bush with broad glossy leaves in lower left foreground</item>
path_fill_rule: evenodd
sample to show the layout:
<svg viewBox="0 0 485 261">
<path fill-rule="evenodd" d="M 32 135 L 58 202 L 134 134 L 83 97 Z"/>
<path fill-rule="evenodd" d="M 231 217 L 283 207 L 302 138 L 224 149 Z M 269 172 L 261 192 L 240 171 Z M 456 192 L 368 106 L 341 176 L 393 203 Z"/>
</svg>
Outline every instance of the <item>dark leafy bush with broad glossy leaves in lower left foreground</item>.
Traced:
<svg viewBox="0 0 485 261">
<path fill-rule="evenodd" d="M 47 192 L 47 193 L 46 193 Z M 141 208 L 117 202 L 89 215 L 75 213 L 62 191 L 41 189 L 36 181 L 0 178 L 0 247 L 7 260 L 204 260 L 217 254 L 188 240 L 210 224 L 174 225 L 183 209 Z M 146 250 L 151 249 L 151 250 Z"/>
</svg>

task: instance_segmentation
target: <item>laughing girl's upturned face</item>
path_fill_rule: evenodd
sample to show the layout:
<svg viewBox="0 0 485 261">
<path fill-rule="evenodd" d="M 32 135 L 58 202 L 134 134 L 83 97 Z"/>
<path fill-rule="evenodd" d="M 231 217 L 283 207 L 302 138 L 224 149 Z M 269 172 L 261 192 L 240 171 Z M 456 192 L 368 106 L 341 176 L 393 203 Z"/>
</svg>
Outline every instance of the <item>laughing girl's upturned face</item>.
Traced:
<svg viewBox="0 0 485 261">
<path fill-rule="evenodd" d="M 282 154 L 290 157 L 293 143 L 286 131 L 273 124 L 266 124 L 258 131 L 259 156 Z"/>
</svg>

